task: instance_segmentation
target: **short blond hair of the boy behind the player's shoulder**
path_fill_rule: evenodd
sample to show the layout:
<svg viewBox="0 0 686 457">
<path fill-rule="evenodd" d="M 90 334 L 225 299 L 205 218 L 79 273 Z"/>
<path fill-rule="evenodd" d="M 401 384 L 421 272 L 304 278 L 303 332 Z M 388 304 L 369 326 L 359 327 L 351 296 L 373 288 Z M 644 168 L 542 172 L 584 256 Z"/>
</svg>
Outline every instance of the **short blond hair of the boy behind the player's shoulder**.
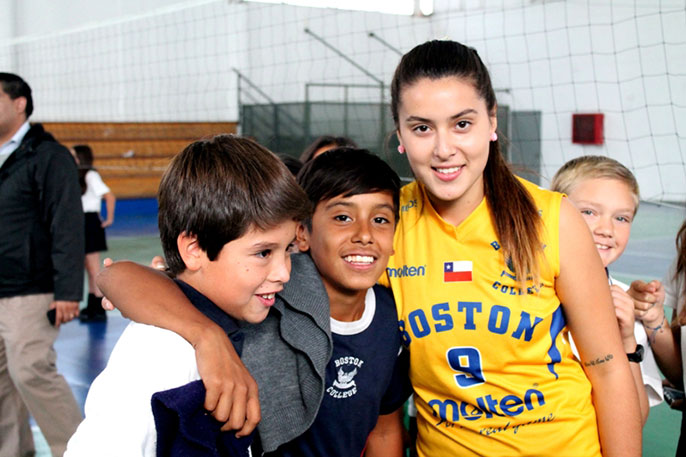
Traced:
<svg viewBox="0 0 686 457">
<path fill-rule="evenodd" d="M 550 189 L 569 195 L 579 183 L 599 178 L 616 179 L 626 184 L 634 197 L 636 214 L 641 195 L 636 177 L 627 167 L 609 157 L 589 155 L 570 160 L 557 170 Z"/>
</svg>

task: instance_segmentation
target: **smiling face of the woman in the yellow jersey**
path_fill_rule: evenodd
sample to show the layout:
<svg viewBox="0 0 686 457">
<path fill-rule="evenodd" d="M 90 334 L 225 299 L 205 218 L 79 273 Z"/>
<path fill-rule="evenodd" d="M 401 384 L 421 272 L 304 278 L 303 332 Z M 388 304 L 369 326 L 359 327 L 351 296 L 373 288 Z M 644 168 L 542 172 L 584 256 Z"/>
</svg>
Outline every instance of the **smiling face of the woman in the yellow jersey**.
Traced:
<svg viewBox="0 0 686 457">
<path fill-rule="evenodd" d="M 457 224 L 484 195 L 495 112 L 469 81 L 421 78 L 400 92 L 398 137 L 412 171 L 445 219 Z"/>
</svg>

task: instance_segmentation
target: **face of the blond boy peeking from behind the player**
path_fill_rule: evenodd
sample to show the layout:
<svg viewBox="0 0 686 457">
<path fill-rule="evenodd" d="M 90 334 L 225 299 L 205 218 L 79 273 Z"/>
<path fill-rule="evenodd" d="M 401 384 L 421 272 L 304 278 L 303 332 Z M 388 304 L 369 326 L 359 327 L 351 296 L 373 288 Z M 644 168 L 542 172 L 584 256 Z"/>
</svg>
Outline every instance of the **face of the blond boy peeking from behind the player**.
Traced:
<svg viewBox="0 0 686 457">
<path fill-rule="evenodd" d="M 607 267 L 622 255 L 629 242 L 636 210 L 634 194 L 620 180 L 593 178 L 576 184 L 568 196 L 591 229 Z"/>
</svg>

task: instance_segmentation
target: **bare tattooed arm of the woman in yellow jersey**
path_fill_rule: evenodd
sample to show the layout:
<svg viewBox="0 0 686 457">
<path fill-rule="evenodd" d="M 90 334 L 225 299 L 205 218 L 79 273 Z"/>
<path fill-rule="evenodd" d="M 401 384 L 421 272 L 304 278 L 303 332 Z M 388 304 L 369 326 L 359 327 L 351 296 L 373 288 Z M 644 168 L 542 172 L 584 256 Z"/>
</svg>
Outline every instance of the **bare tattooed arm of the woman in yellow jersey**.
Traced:
<svg viewBox="0 0 686 457">
<path fill-rule="evenodd" d="M 560 275 L 555 289 L 593 387 L 603 455 L 640 456 L 638 395 L 607 277 L 588 226 L 567 199 L 560 211 Z"/>
</svg>

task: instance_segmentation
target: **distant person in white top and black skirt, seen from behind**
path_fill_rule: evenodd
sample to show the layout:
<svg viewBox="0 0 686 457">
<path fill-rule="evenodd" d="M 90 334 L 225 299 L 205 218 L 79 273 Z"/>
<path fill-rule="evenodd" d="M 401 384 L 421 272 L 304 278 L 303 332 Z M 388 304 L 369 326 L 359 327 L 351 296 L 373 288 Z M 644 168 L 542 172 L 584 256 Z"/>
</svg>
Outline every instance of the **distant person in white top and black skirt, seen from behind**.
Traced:
<svg viewBox="0 0 686 457">
<path fill-rule="evenodd" d="M 79 313 L 81 322 L 98 322 L 107 319 L 105 310 L 100 306 L 102 292 L 95 283 L 100 271 L 100 252 L 107 250 L 105 228 L 114 222 L 116 198 L 107 187 L 95 168 L 93 168 L 93 151 L 90 146 L 78 144 L 72 148 L 79 165 L 79 184 L 81 185 L 81 204 L 85 218 L 86 235 L 86 273 L 88 275 L 88 301 Z M 101 200 L 105 200 L 107 216 L 100 219 Z"/>
</svg>

